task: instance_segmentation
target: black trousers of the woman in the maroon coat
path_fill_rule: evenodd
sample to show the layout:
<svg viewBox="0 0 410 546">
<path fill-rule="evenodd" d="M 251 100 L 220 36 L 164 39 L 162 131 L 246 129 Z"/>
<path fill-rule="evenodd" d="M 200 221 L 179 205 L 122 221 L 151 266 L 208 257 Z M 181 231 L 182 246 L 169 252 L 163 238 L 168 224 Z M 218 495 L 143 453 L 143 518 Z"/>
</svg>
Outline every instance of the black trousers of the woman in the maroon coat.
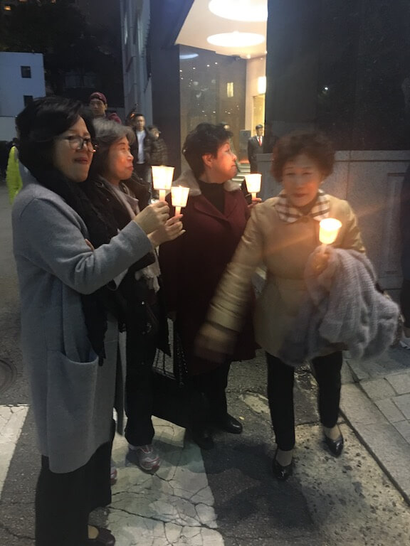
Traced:
<svg viewBox="0 0 410 546">
<path fill-rule="evenodd" d="M 185 383 L 204 396 L 206 403 L 199 405 L 193 415 L 192 427 L 206 427 L 210 421 L 217 421 L 227 413 L 226 387 L 230 363 L 222 364 L 214 370 L 199 375 L 187 375 Z"/>
</svg>

